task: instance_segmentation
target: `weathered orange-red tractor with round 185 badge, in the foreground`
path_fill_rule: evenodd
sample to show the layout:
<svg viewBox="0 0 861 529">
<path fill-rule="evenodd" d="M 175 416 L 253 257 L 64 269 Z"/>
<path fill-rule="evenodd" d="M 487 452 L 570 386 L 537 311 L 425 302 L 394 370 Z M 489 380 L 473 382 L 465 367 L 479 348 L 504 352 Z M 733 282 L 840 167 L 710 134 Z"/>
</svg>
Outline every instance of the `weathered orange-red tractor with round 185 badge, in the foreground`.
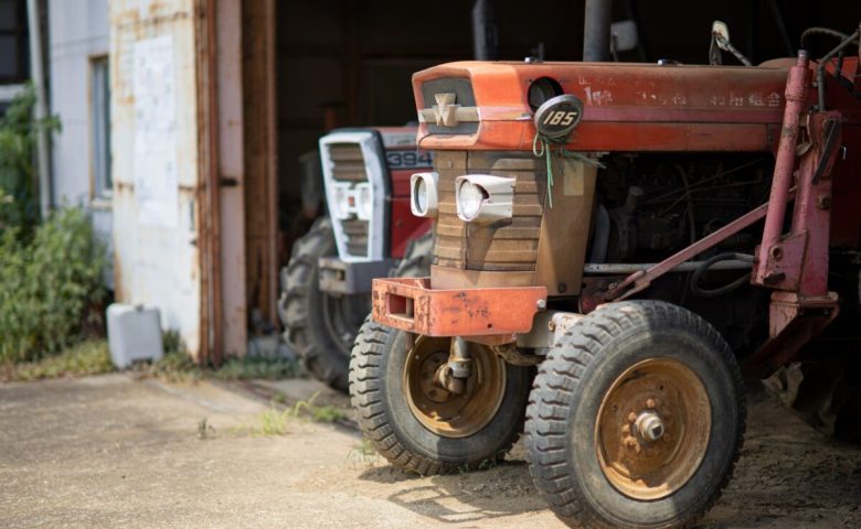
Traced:
<svg viewBox="0 0 861 529">
<path fill-rule="evenodd" d="M 350 390 L 376 450 L 451 472 L 524 432 L 566 523 L 694 523 L 740 455 L 743 369 L 861 350 L 859 31 L 811 33 L 837 46 L 415 74 L 433 263 L 373 282 Z"/>
</svg>

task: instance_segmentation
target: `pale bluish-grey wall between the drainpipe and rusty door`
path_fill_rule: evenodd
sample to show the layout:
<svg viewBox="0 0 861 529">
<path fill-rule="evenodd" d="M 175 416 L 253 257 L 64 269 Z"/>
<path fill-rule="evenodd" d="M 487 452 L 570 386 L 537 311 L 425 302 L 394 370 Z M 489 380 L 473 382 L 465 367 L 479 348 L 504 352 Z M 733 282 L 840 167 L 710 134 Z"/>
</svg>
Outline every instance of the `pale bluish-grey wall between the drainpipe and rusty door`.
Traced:
<svg viewBox="0 0 861 529">
<path fill-rule="evenodd" d="M 108 53 L 108 0 L 49 0 L 47 20 L 50 106 L 63 127 L 51 147 L 53 201 L 89 207 L 113 255 L 110 199 L 93 199 L 88 82 L 91 57 Z M 113 270 L 106 280 L 113 288 Z"/>
</svg>

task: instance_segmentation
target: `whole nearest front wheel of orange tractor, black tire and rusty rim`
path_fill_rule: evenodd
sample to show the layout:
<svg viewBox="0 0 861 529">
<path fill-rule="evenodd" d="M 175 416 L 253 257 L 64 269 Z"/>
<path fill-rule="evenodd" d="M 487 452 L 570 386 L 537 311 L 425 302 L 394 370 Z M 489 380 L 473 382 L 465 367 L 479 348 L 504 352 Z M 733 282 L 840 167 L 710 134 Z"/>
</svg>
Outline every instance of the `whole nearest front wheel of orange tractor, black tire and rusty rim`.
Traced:
<svg viewBox="0 0 861 529">
<path fill-rule="evenodd" d="M 655 301 L 577 322 L 540 366 L 530 472 L 577 527 L 688 527 L 732 475 L 745 428 L 741 371 L 705 321 Z"/>
</svg>

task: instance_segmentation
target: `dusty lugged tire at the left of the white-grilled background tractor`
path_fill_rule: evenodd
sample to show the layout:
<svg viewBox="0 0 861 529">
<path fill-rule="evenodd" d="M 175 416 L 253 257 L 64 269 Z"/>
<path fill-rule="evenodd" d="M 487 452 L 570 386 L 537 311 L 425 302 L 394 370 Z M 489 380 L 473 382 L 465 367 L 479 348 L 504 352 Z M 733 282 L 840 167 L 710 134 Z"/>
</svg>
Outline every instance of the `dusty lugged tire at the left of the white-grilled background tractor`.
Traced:
<svg viewBox="0 0 861 529">
<path fill-rule="evenodd" d="M 320 217 L 294 244 L 290 261 L 281 270 L 278 313 L 284 338 L 306 369 L 328 386 L 346 392 L 350 349 L 370 310 L 370 298 L 320 291 L 318 260 L 337 255 L 331 220 Z"/>
</svg>

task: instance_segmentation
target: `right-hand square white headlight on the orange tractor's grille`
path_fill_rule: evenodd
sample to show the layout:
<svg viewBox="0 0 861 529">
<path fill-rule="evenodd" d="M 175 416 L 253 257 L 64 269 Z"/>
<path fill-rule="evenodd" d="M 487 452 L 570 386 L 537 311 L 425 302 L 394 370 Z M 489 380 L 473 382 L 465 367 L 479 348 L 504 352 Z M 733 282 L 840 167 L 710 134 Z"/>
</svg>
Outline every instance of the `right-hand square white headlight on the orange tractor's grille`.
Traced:
<svg viewBox="0 0 861 529">
<path fill-rule="evenodd" d="M 457 216 L 466 223 L 490 224 L 511 218 L 515 179 L 468 174 L 455 180 Z"/>
</svg>

